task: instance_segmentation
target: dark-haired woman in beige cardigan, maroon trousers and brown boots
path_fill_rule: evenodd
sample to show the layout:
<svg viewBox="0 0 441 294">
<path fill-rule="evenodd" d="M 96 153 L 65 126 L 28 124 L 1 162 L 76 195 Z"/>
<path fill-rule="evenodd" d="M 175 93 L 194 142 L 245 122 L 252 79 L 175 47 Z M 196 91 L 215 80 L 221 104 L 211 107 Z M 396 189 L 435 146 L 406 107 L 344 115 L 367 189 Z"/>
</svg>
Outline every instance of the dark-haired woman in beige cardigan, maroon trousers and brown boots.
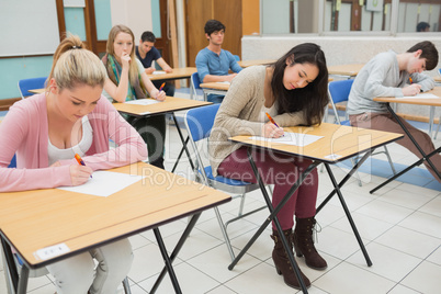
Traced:
<svg viewBox="0 0 441 294">
<path fill-rule="evenodd" d="M 210 136 L 214 176 L 257 182 L 247 148 L 230 143 L 228 137 L 257 135 L 278 138 L 283 136 L 284 126 L 319 124 L 328 103 L 327 86 L 325 55 L 312 43 L 295 46 L 272 65 L 240 71 L 220 104 Z M 253 160 L 264 183 L 274 184 L 274 207 L 310 163 L 307 159 L 259 150 L 253 151 Z M 327 263 L 313 241 L 317 188 L 318 176 L 314 170 L 279 212 L 278 218 L 297 256 L 304 256 L 309 268 L 324 270 Z M 293 231 L 294 215 L 296 226 Z M 299 289 L 274 224 L 271 238 L 275 244 L 272 258 L 276 272 L 283 275 L 289 286 Z M 306 286 L 310 285 L 305 275 L 303 280 Z"/>
</svg>

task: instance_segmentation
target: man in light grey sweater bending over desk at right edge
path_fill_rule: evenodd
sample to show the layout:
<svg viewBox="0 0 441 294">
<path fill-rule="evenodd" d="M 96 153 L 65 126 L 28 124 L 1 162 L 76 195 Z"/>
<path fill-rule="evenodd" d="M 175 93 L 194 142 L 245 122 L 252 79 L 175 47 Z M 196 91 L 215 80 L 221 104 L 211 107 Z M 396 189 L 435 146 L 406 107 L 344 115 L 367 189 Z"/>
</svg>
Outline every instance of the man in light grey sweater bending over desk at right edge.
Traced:
<svg viewBox="0 0 441 294">
<path fill-rule="evenodd" d="M 348 101 L 348 114 L 352 126 L 404 134 L 397 144 L 406 147 L 418 158 L 421 154 L 405 134 L 400 125 L 387 111 L 386 104 L 373 101 L 376 97 L 416 95 L 434 87 L 434 81 L 423 70 L 432 70 L 438 65 L 438 50 L 429 42 L 420 42 L 406 53 L 396 54 L 393 50 L 381 53 L 372 58 L 359 72 L 353 81 Z M 409 81 L 410 84 L 407 82 Z M 400 118 L 402 123 L 415 137 L 426 154 L 434 150 L 430 136 Z M 430 157 L 432 163 L 441 171 L 441 156 Z M 432 176 L 441 181 L 425 160 L 425 166 Z"/>
</svg>

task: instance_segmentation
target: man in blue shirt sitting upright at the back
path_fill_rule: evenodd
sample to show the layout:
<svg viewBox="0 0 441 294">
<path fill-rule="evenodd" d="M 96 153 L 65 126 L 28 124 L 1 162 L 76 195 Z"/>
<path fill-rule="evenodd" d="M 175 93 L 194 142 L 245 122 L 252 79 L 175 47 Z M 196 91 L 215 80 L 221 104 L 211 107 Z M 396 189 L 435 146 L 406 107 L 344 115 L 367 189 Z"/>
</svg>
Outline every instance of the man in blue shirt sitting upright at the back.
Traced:
<svg viewBox="0 0 441 294">
<path fill-rule="evenodd" d="M 208 46 L 200 50 L 196 56 L 199 78 L 201 82 L 230 82 L 242 68 L 231 53 L 222 49 L 225 25 L 219 21 L 210 20 L 205 23 L 204 30 Z M 228 70 L 235 74 L 229 75 Z M 210 94 L 207 99 L 213 103 L 220 103 L 224 95 Z"/>
</svg>

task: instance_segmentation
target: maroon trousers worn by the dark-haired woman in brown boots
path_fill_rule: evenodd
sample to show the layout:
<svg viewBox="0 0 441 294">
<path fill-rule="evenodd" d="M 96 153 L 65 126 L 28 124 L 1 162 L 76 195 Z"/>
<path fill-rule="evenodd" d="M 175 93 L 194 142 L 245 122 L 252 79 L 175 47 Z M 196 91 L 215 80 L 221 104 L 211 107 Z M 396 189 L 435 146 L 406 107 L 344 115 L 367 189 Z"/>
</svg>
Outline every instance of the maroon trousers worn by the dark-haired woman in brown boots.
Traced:
<svg viewBox="0 0 441 294">
<path fill-rule="evenodd" d="M 281 156 L 271 151 L 255 150 L 252 159 L 265 184 L 274 184 L 272 205 L 275 207 L 298 179 L 299 174 L 310 165 L 310 160 Z M 217 169 L 226 178 L 257 183 L 251 163 L 248 160 L 247 148 L 242 147 L 230 154 Z M 303 184 L 294 192 L 289 202 L 279 212 L 278 218 L 282 229 L 294 226 L 294 214 L 298 218 L 313 217 L 316 214 L 318 190 L 317 169 L 306 177 Z M 274 222 L 272 223 L 275 228 Z"/>
</svg>

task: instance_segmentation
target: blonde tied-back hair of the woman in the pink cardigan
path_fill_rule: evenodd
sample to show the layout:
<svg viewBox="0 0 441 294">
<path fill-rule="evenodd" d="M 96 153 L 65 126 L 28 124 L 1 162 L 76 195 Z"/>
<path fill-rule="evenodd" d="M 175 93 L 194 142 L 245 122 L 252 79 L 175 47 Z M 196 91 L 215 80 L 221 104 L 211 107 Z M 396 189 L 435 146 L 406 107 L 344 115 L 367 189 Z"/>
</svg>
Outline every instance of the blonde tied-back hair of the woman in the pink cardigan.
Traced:
<svg viewBox="0 0 441 294">
<path fill-rule="evenodd" d="M 60 90 L 71 90 L 78 84 L 103 88 L 105 74 L 100 58 L 84 47 L 80 37 L 68 35 L 54 54 L 54 63 L 47 80 L 50 81 L 54 78 Z"/>
</svg>

